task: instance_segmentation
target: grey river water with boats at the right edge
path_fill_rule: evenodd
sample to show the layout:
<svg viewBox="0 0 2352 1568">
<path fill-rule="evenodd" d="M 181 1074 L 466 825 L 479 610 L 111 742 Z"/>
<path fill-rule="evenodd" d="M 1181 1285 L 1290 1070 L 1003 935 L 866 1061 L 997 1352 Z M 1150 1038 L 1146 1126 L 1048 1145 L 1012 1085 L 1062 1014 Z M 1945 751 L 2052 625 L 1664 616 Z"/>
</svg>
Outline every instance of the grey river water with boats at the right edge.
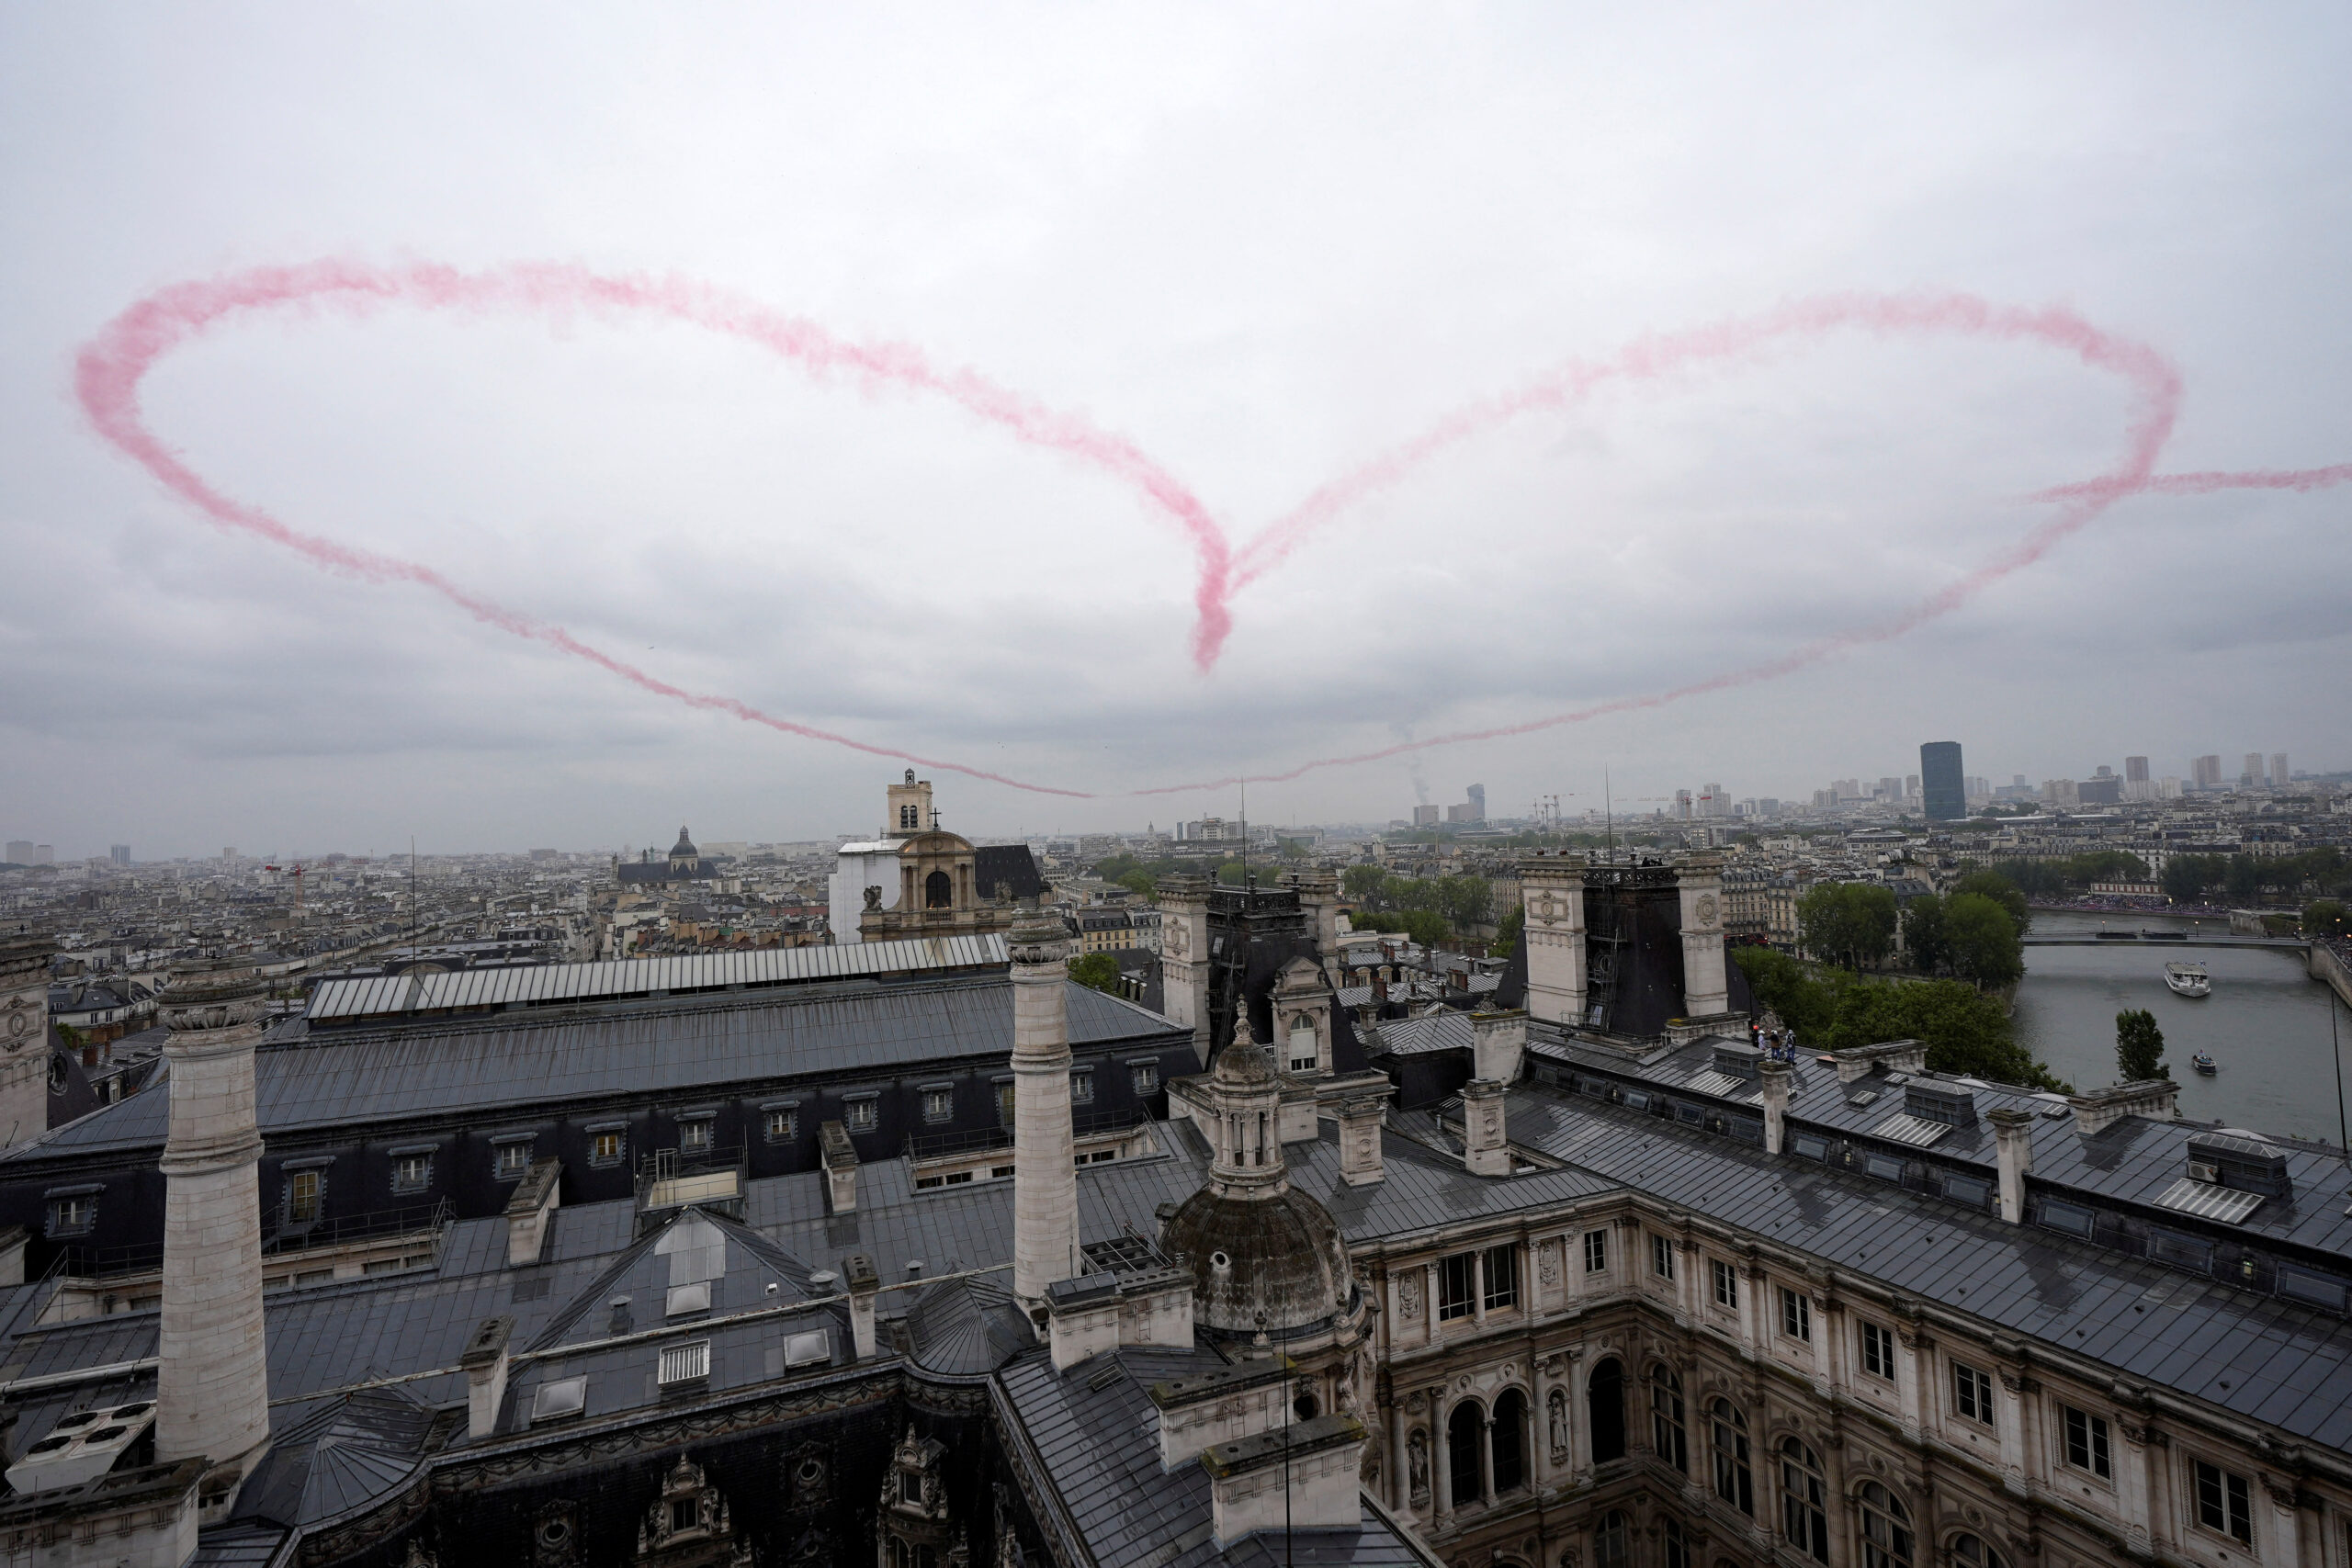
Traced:
<svg viewBox="0 0 2352 1568">
<path fill-rule="evenodd" d="M 2032 936 L 2070 931 L 2187 926 L 2185 919 L 2133 914 L 2063 914 L 2034 910 Z M 2216 922 L 2204 922 L 2213 929 Z M 2164 961 L 2194 957 L 2213 976 L 2213 994 L 2176 997 Z M 2018 985 L 2018 1044 L 2074 1088 L 2114 1081 L 2114 1016 L 2147 1009 L 2164 1030 L 2164 1063 L 2180 1084 L 2180 1114 L 2258 1133 L 2338 1140 L 2336 1037 L 2352 1051 L 2352 1009 L 2303 969 L 2300 952 L 2241 947 L 2192 950 L 2117 943 L 2114 947 L 2027 947 Z M 2206 1051 L 2220 1074 L 2199 1077 L 2190 1053 Z"/>
</svg>

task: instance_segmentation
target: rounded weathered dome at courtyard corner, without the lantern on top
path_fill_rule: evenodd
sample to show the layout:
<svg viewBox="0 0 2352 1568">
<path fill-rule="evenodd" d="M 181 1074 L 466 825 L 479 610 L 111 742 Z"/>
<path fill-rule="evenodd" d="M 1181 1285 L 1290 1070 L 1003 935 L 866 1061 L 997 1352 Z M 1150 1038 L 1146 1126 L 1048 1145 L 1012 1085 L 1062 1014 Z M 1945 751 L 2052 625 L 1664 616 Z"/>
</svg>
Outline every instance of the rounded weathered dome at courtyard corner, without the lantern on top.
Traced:
<svg viewBox="0 0 2352 1568">
<path fill-rule="evenodd" d="M 1202 1187 L 1167 1218 L 1160 1251 L 1192 1269 L 1192 1321 L 1228 1335 L 1319 1328 L 1355 1293 L 1331 1211 L 1291 1185 L 1251 1197 Z"/>
</svg>

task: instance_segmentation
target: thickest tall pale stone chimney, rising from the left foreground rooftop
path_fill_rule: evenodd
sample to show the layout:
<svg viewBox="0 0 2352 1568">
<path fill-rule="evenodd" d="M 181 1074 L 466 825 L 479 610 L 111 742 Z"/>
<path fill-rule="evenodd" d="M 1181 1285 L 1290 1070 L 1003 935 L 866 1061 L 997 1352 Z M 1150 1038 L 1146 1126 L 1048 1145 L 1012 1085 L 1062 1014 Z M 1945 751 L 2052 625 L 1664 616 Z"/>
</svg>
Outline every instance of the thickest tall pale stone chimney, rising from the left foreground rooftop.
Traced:
<svg viewBox="0 0 2352 1568">
<path fill-rule="evenodd" d="M 188 964 L 162 994 L 172 1121 L 165 1135 L 155 1460 L 228 1472 L 235 1495 L 270 1441 L 261 1335 L 261 1131 L 254 1044 L 268 987 L 249 969 Z M 207 1514 L 226 1514 L 207 1507 Z"/>
</svg>

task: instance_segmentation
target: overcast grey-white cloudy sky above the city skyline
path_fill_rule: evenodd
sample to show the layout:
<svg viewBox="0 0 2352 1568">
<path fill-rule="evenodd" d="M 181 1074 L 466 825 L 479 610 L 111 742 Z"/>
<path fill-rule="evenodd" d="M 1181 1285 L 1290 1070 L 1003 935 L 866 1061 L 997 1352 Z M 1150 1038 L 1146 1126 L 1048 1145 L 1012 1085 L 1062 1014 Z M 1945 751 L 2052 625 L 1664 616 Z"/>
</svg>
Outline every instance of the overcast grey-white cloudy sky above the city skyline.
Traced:
<svg viewBox="0 0 2352 1568">
<path fill-rule="evenodd" d="M 1134 792 L 1797 649 L 1261 783 L 1251 816 L 1470 780 L 1576 811 L 1604 766 L 1635 809 L 1790 797 L 1931 738 L 1997 780 L 2352 766 L 2352 487 L 2133 494 L 1882 635 L 2063 522 L 2037 491 L 2124 473 L 2166 371 L 2157 473 L 2352 461 L 2347 54 L 2321 5 L 7 5 L 0 832 L 877 825 L 903 762 L 325 571 L 92 425 L 75 362 L 120 313 L 313 261 L 720 306 L 230 313 L 136 386 L 191 475 L 654 682 L 934 759 L 974 835 L 1230 813 L 1230 785 Z M 2152 353 L 1969 329 L 1950 294 Z M 1875 299 L 1919 320 L 1856 322 Z M 1743 322 L 1783 329 L 1670 336 Z M 1686 353 L 1625 357 L 1661 339 Z M 1204 578 L 1317 494 L 1296 548 Z"/>
</svg>

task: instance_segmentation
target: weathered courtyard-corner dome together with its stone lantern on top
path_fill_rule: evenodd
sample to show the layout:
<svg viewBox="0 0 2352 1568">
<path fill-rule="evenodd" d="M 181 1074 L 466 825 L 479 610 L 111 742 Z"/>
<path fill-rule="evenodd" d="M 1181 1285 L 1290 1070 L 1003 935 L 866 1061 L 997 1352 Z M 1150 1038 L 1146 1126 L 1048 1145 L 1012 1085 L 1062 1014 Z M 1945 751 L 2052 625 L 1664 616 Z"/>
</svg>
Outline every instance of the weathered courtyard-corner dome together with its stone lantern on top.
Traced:
<svg viewBox="0 0 2352 1568">
<path fill-rule="evenodd" d="M 1223 1335 L 1296 1338 L 1352 1309 L 1348 1244 L 1331 1211 L 1282 1168 L 1282 1081 L 1263 1044 L 1235 1041 L 1209 1072 L 1216 1161 L 1176 1206 L 1160 1251 L 1192 1269 L 1192 1321 Z"/>
</svg>

